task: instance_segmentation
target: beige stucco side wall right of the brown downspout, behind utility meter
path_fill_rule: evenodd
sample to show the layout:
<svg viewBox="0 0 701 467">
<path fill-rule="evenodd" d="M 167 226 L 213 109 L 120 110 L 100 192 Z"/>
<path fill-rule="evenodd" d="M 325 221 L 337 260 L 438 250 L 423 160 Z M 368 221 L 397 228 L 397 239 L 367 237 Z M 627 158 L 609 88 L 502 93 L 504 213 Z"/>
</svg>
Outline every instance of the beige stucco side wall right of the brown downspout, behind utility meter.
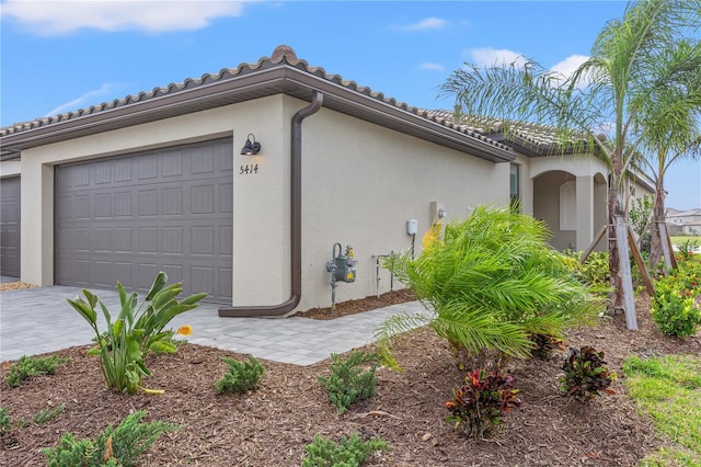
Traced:
<svg viewBox="0 0 701 467">
<path fill-rule="evenodd" d="M 464 219 L 478 204 L 506 206 L 509 164 L 484 161 L 322 109 L 303 124 L 304 294 L 298 309 L 331 305 L 325 263 L 333 244 L 355 250 L 357 280 L 340 284 L 336 301 L 377 293 L 376 258 L 407 250 L 406 219 L 418 220 L 421 252 L 432 202 L 447 220 Z M 381 291 L 390 288 L 384 270 Z M 398 284 L 395 284 L 398 286 Z"/>
</svg>

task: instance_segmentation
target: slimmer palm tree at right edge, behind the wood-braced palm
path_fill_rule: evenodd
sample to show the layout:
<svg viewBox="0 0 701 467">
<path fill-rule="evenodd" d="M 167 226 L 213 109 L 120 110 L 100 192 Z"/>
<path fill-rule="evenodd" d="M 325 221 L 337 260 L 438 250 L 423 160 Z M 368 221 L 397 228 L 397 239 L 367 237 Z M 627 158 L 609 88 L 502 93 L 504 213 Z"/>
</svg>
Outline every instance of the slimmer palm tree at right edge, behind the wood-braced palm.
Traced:
<svg viewBox="0 0 701 467">
<path fill-rule="evenodd" d="M 701 155 L 701 41 L 685 41 L 667 50 L 664 73 L 669 86 L 641 95 L 636 118 L 641 134 L 639 163 L 655 181 L 654 223 L 651 229 L 650 266 L 662 259 L 658 223 L 665 220 L 665 173 L 676 161 Z"/>
</svg>

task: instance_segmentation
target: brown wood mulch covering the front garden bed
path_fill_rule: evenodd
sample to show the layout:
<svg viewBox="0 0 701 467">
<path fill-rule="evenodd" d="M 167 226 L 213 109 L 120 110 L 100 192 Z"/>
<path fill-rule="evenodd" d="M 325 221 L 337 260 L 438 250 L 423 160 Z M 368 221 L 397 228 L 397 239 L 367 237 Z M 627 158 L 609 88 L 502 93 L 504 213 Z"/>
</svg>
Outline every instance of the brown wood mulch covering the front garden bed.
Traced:
<svg viewBox="0 0 701 467">
<path fill-rule="evenodd" d="M 524 403 L 505 417 L 503 432 L 489 440 L 467 438 L 444 420 L 444 402 L 464 373 L 452 364 L 445 341 L 420 329 L 394 348 L 404 372 L 380 367 L 375 396 L 343 415 L 317 381 L 317 375 L 329 374 L 329 361 L 296 366 L 263 360 L 267 373 L 257 392 L 217 395 L 214 384 L 227 367 L 220 357 L 245 355 L 186 344 L 176 354 L 148 362 L 153 375 L 145 386 L 165 394 L 126 396 L 104 387 L 97 361 L 85 355 L 87 346 L 66 349 L 56 354 L 69 361 L 54 376 L 34 378 L 20 388 L 0 383 L 0 407 L 7 407 L 13 420 L 26 421 L 3 436 L 0 464 L 43 465 L 39 447 L 55 446 L 62 433 L 94 438 L 108 423 L 146 409 L 147 420 L 183 428 L 162 435 L 140 458 L 143 466 L 299 466 L 303 446 L 315 433 L 338 441 L 356 431 L 391 445 L 371 465 L 632 466 L 662 442 L 624 396 L 621 362 L 631 354 L 701 354 L 701 335 L 666 338 L 650 319 L 650 298 L 640 296 L 636 304 L 639 331 L 625 330 L 624 317 L 616 316 L 597 328 L 577 329 L 567 340 L 571 346 L 590 344 L 606 352 L 609 367 L 619 374 L 612 386 L 616 395 L 588 405 L 559 396 L 564 352 L 545 361 L 512 362 L 508 369 Z M 0 376 L 7 371 L 8 365 L 0 368 Z M 32 421 L 38 410 L 60 403 L 66 410 L 53 421 Z"/>
</svg>

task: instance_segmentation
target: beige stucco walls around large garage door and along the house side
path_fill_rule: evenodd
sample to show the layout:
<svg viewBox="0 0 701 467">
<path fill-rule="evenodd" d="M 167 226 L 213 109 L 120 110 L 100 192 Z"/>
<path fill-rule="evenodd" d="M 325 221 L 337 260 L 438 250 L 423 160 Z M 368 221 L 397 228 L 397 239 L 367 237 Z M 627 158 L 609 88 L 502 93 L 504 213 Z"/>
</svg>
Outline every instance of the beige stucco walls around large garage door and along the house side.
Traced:
<svg viewBox="0 0 701 467">
<path fill-rule="evenodd" d="M 290 295 L 290 118 L 308 103 L 275 95 L 22 153 L 22 281 L 54 284 L 54 169 L 79 160 L 233 136 L 233 305 L 276 305 Z M 246 135 L 261 153 L 240 156 Z M 478 204 L 508 204 L 508 163 L 438 147 L 327 109 L 302 124 L 302 298 L 298 310 L 331 304 L 333 244 L 354 247 L 357 281 L 336 300 L 378 292 L 376 258 L 410 249 L 406 219 L 418 220 L 416 254 L 432 202 L 448 219 Z M 257 164 L 255 174 L 239 168 Z M 11 166 L 1 166 L 3 175 Z M 19 168 L 13 170 L 19 172 Z M 381 272 L 380 292 L 390 287 Z M 399 287 L 399 284 L 395 284 Z"/>
</svg>

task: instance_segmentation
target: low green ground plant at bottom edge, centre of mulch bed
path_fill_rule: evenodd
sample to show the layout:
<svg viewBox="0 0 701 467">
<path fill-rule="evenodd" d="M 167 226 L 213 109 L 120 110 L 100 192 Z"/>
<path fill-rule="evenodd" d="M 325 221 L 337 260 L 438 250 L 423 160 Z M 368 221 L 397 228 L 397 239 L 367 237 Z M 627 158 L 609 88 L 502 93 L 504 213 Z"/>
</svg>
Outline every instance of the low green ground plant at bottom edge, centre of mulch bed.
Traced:
<svg viewBox="0 0 701 467">
<path fill-rule="evenodd" d="M 343 436 L 340 443 L 317 433 L 314 442 L 304 446 L 307 457 L 302 459 L 302 467 L 359 467 L 372 453 L 388 448 L 384 440 L 363 441 L 358 433 Z"/>
</svg>

